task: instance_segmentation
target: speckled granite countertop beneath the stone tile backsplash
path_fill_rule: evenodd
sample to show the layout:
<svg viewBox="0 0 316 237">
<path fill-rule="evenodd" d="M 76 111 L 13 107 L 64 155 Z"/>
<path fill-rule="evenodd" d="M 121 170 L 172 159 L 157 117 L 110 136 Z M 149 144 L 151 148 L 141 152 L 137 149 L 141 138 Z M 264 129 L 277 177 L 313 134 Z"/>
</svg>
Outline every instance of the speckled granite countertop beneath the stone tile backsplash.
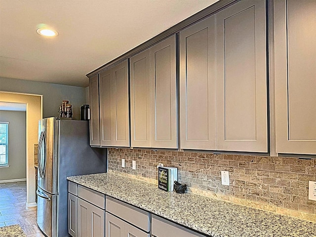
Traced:
<svg viewBox="0 0 316 237">
<path fill-rule="evenodd" d="M 316 223 L 199 196 L 111 173 L 68 180 L 211 237 L 316 237 Z"/>
</svg>

